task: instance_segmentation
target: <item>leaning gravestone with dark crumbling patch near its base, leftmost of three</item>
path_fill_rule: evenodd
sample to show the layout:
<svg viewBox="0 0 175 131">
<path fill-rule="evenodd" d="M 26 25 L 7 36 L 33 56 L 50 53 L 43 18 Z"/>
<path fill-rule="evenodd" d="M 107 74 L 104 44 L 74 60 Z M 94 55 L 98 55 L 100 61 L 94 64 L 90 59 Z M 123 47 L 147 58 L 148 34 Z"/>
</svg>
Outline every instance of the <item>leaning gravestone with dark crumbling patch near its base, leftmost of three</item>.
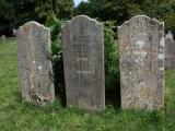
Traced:
<svg viewBox="0 0 175 131">
<path fill-rule="evenodd" d="M 52 66 L 48 59 L 49 28 L 28 22 L 16 31 L 22 97 L 35 105 L 54 102 Z"/>
</svg>

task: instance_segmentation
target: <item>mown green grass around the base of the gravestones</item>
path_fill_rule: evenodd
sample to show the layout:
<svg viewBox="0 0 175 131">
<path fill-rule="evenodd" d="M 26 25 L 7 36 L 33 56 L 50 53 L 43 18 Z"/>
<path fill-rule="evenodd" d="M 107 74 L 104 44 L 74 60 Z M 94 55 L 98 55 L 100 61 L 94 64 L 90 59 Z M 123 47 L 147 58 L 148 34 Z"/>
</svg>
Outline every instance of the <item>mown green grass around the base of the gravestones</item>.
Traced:
<svg viewBox="0 0 175 131">
<path fill-rule="evenodd" d="M 174 131 L 175 71 L 167 71 L 165 117 L 162 111 L 120 110 L 106 106 L 103 112 L 65 108 L 60 100 L 47 107 L 21 98 L 16 44 L 0 43 L 0 131 Z"/>
</svg>

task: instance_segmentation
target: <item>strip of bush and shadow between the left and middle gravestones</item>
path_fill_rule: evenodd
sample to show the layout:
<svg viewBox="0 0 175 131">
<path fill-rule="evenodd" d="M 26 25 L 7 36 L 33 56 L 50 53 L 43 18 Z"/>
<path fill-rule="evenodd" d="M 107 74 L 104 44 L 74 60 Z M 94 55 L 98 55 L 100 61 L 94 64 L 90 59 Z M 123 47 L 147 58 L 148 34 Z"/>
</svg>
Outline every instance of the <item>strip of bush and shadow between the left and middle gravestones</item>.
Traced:
<svg viewBox="0 0 175 131">
<path fill-rule="evenodd" d="M 66 21 L 56 19 L 54 14 L 48 17 L 47 25 L 51 31 L 51 60 L 55 75 L 55 90 L 59 94 L 62 104 L 66 104 L 66 88 L 65 88 L 65 76 L 63 76 L 63 59 L 61 48 L 61 28 Z M 51 21 L 52 20 L 52 21 Z"/>
</svg>

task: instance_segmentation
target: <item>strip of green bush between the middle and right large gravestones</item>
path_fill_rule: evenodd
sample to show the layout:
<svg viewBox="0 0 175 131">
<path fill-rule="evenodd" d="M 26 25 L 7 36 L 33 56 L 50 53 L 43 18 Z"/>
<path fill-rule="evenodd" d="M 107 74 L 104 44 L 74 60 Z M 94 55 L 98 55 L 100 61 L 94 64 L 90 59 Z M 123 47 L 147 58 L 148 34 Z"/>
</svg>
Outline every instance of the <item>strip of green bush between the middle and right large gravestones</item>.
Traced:
<svg viewBox="0 0 175 131">
<path fill-rule="evenodd" d="M 106 88 L 119 87 L 119 52 L 115 27 L 114 21 L 104 22 Z"/>
</svg>

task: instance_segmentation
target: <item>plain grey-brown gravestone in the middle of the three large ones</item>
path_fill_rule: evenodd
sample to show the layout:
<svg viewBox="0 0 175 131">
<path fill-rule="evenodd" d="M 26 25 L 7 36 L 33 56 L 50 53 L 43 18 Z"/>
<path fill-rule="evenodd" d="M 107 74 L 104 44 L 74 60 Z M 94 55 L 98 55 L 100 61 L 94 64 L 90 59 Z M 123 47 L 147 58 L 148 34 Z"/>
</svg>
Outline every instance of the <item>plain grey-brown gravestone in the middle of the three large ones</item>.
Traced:
<svg viewBox="0 0 175 131">
<path fill-rule="evenodd" d="M 67 105 L 105 109 L 103 25 L 85 15 L 62 29 Z"/>
</svg>

